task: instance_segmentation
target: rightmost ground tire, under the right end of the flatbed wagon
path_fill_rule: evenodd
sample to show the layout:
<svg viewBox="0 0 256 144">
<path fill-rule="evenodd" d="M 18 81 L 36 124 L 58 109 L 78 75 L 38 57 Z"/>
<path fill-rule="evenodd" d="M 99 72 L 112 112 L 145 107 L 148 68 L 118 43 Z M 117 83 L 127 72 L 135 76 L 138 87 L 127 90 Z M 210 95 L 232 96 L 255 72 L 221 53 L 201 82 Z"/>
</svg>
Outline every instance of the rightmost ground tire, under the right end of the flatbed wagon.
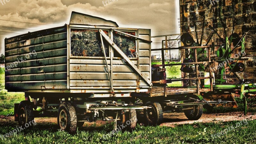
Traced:
<svg viewBox="0 0 256 144">
<path fill-rule="evenodd" d="M 194 99 L 199 99 L 197 96 L 192 96 Z M 192 100 L 190 100 L 192 102 Z M 192 105 L 190 107 L 193 107 L 192 110 L 184 110 L 185 116 L 189 120 L 198 120 L 203 115 L 203 105 Z"/>
</svg>

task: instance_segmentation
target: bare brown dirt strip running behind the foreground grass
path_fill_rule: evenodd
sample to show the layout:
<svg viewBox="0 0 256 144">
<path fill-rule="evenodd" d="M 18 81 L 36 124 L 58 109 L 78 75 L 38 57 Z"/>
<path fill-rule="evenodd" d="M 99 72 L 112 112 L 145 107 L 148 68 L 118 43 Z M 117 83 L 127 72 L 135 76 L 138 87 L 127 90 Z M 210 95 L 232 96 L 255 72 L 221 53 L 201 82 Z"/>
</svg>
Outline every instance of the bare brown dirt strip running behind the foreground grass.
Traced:
<svg viewBox="0 0 256 144">
<path fill-rule="evenodd" d="M 227 122 L 233 120 L 253 120 L 256 119 L 256 115 L 252 115 L 251 113 L 247 113 L 244 116 L 243 112 L 232 112 L 232 113 L 216 113 L 216 114 L 203 114 L 203 116 L 196 121 L 188 120 L 184 113 L 165 113 L 164 114 L 164 122 L 160 126 L 168 126 L 175 127 L 180 124 L 193 124 L 194 122 L 200 123 L 209 123 L 209 122 Z M 56 117 L 40 117 L 35 118 L 36 123 L 55 123 L 57 124 Z M 0 116 L 0 123 L 10 123 L 14 121 L 13 116 Z M 140 125 L 143 125 L 143 118 L 139 118 Z M 97 121 L 97 125 L 105 124 L 107 122 Z M 93 123 L 85 122 L 85 125 L 92 125 Z"/>
</svg>

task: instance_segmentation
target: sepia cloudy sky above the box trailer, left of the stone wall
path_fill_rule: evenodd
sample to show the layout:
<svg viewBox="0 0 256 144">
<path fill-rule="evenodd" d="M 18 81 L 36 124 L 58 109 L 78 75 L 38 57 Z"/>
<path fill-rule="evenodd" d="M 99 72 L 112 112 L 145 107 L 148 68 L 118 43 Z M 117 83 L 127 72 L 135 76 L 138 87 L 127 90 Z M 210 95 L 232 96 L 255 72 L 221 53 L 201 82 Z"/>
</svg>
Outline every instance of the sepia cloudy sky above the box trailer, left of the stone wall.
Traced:
<svg viewBox="0 0 256 144">
<path fill-rule="evenodd" d="M 119 27 L 149 28 L 152 36 L 179 33 L 178 0 L 108 1 L 0 0 L 0 53 L 4 53 L 5 37 L 68 24 L 72 11 L 115 21 Z M 26 29 L 16 31 L 17 28 Z M 155 44 L 160 41 L 155 39 Z"/>
</svg>

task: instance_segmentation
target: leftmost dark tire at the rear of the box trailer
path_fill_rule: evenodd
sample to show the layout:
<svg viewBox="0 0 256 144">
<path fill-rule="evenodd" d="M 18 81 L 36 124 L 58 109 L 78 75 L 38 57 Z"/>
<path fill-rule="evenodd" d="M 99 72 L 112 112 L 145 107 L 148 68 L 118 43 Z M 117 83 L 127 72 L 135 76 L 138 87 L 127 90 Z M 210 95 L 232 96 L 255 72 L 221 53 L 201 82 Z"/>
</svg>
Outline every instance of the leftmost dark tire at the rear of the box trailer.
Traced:
<svg viewBox="0 0 256 144">
<path fill-rule="evenodd" d="M 18 107 L 18 120 L 20 126 L 25 126 L 25 124 L 34 120 L 33 107 L 30 101 L 23 100 L 20 102 Z"/>
</svg>

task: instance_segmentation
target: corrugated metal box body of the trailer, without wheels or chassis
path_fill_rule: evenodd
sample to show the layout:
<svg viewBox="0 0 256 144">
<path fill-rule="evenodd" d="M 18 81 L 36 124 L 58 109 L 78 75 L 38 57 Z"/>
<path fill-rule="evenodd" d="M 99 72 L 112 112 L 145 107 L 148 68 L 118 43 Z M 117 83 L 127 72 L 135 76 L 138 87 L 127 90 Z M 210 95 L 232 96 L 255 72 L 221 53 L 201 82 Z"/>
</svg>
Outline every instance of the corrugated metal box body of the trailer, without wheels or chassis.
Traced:
<svg viewBox="0 0 256 144">
<path fill-rule="evenodd" d="M 85 18 L 95 20 L 92 22 L 93 26 L 80 22 Z M 110 36 L 112 41 L 118 42 L 132 64 L 150 80 L 151 45 L 114 31 L 150 40 L 150 29 L 119 28 L 114 22 L 73 12 L 70 25 L 5 40 L 5 88 L 9 92 L 61 91 L 84 93 L 90 97 L 111 97 L 112 93 L 115 93 L 115 97 L 130 97 L 130 92 L 147 92 L 150 85 L 104 41 L 108 63 L 108 68 L 106 67 L 105 57 L 101 52 L 99 29 Z M 82 35 L 80 39 L 79 35 Z M 122 40 L 129 43 L 124 45 Z M 81 47 L 85 44 L 94 46 L 82 49 L 77 47 L 78 43 Z M 93 51 L 93 48 L 98 52 L 88 52 Z"/>
</svg>

